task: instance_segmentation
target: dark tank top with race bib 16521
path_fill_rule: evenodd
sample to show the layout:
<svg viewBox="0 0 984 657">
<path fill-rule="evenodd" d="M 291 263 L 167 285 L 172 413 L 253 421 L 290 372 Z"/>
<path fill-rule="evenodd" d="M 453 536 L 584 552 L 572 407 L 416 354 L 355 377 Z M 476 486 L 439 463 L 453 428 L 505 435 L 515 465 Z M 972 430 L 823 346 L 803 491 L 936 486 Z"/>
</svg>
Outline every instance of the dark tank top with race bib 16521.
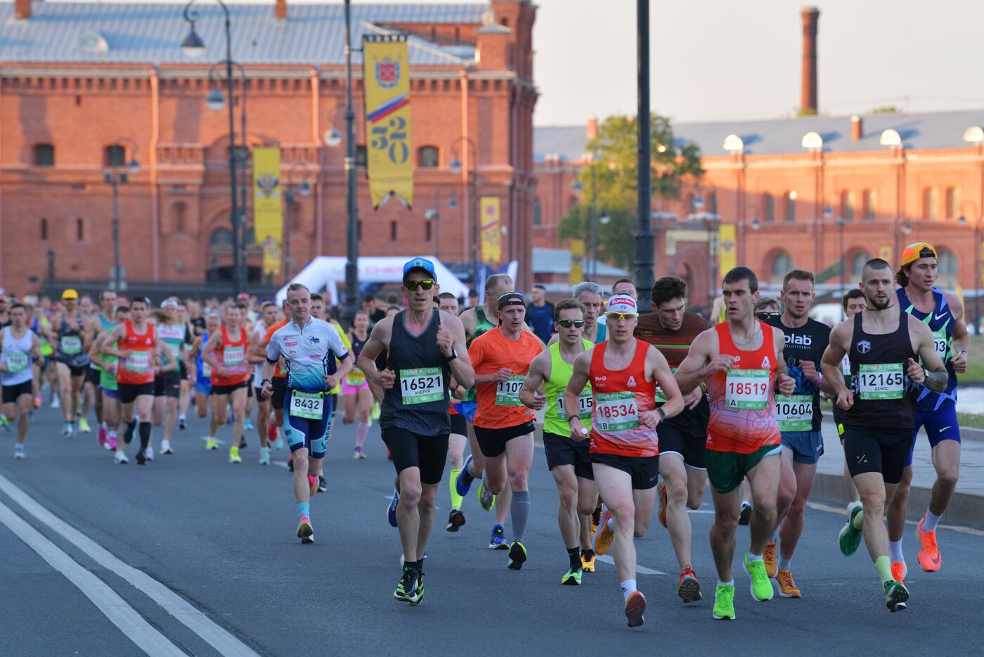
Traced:
<svg viewBox="0 0 984 657">
<path fill-rule="evenodd" d="M 400 311 L 393 317 L 387 366 L 397 373 L 397 380 L 383 395 L 379 426 L 405 428 L 421 435 L 449 433 L 448 381 L 451 368 L 437 346 L 441 313 L 433 309 L 424 332 L 412 336 L 403 326 L 405 312 Z"/>
</svg>

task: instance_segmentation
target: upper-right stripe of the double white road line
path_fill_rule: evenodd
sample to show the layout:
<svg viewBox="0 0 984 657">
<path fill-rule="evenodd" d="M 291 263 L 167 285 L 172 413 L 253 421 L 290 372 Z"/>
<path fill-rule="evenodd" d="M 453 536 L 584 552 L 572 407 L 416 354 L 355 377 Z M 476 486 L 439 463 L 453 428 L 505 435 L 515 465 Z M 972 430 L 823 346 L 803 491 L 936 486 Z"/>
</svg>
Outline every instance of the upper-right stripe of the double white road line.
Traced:
<svg viewBox="0 0 984 657">
<path fill-rule="evenodd" d="M 44 506 L 34 500 L 31 495 L 18 488 L 9 479 L 0 475 L 0 491 L 10 495 L 10 498 L 24 507 L 28 513 L 44 523 L 67 541 L 86 553 L 95 562 L 107 568 L 147 597 L 160 605 L 164 611 L 202 637 L 209 645 L 223 655 L 256 655 L 248 645 L 230 634 L 226 629 L 212 621 L 208 616 L 195 609 L 188 601 L 174 593 L 154 577 L 143 570 L 123 562 L 106 551 L 91 538 L 58 518 Z"/>
</svg>

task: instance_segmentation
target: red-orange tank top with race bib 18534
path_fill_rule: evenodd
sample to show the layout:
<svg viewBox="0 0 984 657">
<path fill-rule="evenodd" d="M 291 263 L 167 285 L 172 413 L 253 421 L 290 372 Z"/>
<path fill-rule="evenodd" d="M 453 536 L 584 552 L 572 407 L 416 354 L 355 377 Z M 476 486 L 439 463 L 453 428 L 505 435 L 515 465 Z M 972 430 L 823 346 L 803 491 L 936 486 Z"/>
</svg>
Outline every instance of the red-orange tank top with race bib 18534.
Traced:
<svg viewBox="0 0 984 657">
<path fill-rule="evenodd" d="M 617 456 L 656 456 L 654 429 L 639 424 L 639 415 L 656 408 L 656 382 L 646 381 L 649 345 L 636 338 L 636 354 L 624 369 L 605 367 L 608 342 L 594 346 L 587 380 L 591 384 L 590 451 Z"/>
</svg>

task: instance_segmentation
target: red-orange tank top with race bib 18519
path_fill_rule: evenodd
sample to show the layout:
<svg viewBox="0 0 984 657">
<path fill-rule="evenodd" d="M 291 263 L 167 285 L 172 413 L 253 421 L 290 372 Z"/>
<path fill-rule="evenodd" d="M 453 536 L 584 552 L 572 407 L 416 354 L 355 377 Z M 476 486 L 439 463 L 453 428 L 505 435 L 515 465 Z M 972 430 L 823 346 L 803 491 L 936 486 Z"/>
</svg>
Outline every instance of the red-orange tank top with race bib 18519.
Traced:
<svg viewBox="0 0 984 657">
<path fill-rule="evenodd" d="M 762 327 L 762 346 L 751 352 L 738 349 L 731 340 L 728 322 L 714 325 L 717 351 L 736 361 L 727 372 L 707 379 L 710 422 L 707 449 L 718 452 L 751 454 L 760 447 L 777 445 L 781 440 L 775 421 L 775 346 L 772 327 Z"/>
</svg>

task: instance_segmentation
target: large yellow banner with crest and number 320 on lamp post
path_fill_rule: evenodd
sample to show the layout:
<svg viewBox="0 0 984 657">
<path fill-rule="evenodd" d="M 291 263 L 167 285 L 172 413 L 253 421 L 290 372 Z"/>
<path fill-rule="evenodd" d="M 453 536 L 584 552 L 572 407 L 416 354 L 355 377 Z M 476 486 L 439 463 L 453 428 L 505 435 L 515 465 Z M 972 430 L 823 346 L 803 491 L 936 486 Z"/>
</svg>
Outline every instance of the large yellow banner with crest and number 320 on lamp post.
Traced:
<svg viewBox="0 0 984 657">
<path fill-rule="evenodd" d="M 393 194 L 413 205 L 410 157 L 410 66 L 405 35 L 366 34 L 362 42 L 365 83 L 366 165 L 372 205 Z"/>
</svg>

